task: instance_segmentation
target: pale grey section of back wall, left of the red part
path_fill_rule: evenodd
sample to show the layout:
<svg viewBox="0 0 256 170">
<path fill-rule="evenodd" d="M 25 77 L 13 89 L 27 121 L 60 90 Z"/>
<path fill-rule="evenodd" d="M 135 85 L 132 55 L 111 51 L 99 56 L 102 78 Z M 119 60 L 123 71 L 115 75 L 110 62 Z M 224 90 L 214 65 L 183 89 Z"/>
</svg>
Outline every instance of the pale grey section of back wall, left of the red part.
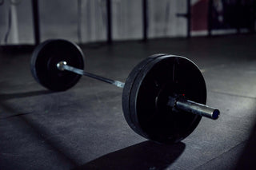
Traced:
<svg viewBox="0 0 256 170">
<path fill-rule="evenodd" d="M 0 6 L 0 45 L 34 43 L 31 1 L 0 1 L 4 2 Z M 148 2 L 150 38 L 186 36 L 186 19 L 176 17 L 176 13 L 186 12 L 186 0 Z M 38 0 L 38 5 L 41 41 L 106 41 L 106 0 Z M 5 42 L 10 6 L 12 21 Z M 114 40 L 142 38 L 142 0 L 112 0 L 111 7 Z"/>
</svg>

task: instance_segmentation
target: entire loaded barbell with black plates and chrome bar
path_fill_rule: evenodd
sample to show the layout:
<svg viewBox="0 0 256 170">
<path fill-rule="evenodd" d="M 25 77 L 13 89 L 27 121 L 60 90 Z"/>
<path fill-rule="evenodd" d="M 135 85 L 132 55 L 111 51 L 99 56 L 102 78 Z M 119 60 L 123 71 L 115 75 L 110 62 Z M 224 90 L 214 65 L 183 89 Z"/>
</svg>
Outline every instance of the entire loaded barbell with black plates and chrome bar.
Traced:
<svg viewBox="0 0 256 170">
<path fill-rule="evenodd" d="M 206 105 L 206 83 L 198 66 L 186 57 L 154 54 L 138 63 L 126 82 L 88 73 L 78 45 L 48 40 L 34 49 L 31 72 L 52 91 L 70 89 L 87 76 L 123 88 L 122 110 L 130 128 L 159 143 L 189 136 L 202 117 L 216 120 L 219 110 Z"/>
</svg>

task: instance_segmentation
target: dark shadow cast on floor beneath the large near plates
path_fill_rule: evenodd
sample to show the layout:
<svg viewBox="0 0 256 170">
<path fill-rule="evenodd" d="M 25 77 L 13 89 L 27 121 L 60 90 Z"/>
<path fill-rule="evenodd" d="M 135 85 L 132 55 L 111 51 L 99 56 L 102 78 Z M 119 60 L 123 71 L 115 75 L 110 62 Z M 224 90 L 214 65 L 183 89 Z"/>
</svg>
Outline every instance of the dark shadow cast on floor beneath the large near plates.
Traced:
<svg viewBox="0 0 256 170">
<path fill-rule="evenodd" d="M 164 169 L 174 163 L 186 144 L 156 144 L 150 140 L 111 152 L 92 160 L 78 169 Z"/>
</svg>

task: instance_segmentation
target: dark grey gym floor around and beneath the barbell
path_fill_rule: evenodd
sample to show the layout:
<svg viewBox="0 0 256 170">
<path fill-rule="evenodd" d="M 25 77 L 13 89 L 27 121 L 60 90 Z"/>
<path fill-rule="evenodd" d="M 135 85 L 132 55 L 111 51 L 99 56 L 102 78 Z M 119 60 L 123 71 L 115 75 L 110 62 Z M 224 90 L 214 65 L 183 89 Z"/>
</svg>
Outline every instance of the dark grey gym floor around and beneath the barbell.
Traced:
<svg viewBox="0 0 256 170">
<path fill-rule="evenodd" d="M 201 69 L 207 105 L 178 144 L 156 144 L 122 115 L 122 89 L 82 77 L 51 93 L 30 73 L 31 50 L 0 52 L 0 169 L 249 169 L 256 168 L 256 35 L 155 39 L 81 45 L 86 71 L 126 81 L 153 53 L 188 57 Z"/>
</svg>

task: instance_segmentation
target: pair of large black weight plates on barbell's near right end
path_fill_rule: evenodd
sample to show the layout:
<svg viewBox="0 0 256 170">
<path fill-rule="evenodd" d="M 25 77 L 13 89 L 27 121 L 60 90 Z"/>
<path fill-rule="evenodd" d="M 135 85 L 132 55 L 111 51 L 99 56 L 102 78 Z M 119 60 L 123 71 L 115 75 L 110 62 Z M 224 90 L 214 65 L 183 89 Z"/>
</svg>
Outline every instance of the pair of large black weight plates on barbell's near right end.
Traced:
<svg viewBox="0 0 256 170">
<path fill-rule="evenodd" d="M 184 139 L 202 117 L 173 111 L 167 106 L 168 97 L 181 94 L 206 104 L 202 73 L 185 57 L 161 55 L 142 63 L 142 69 L 135 67 L 130 73 L 124 88 L 122 107 L 126 121 L 135 132 L 150 140 L 168 144 Z"/>
</svg>

